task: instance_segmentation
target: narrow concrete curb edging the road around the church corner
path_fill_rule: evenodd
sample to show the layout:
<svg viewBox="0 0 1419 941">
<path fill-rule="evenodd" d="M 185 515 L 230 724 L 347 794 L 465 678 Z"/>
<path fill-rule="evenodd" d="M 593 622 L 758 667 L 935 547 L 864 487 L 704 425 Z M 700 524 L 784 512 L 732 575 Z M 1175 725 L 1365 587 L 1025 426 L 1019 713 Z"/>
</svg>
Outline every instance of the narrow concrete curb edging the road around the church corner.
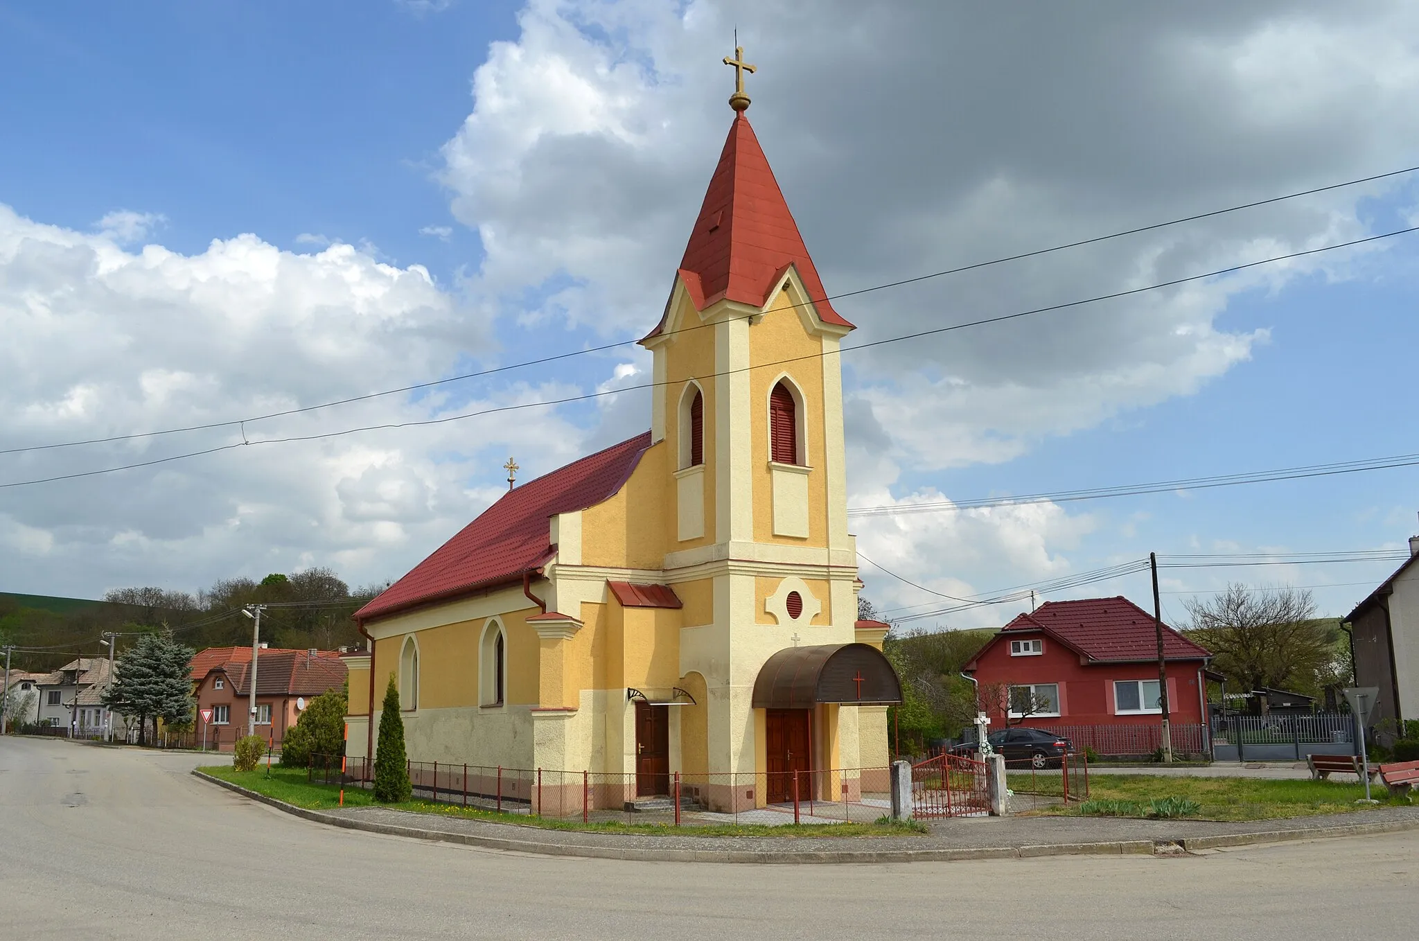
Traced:
<svg viewBox="0 0 1419 941">
<path fill-rule="evenodd" d="M 390 823 L 352 820 L 350 818 L 335 816 L 321 810 L 298 808 L 294 803 L 277 800 L 275 798 L 251 791 L 250 788 L 243 788 L 241 785 L 231 783 L 230 781 L 223 781 L 221 778 L 214 778 L 201 771 L 194 769 L 192 774 L 201 781 L 214 783 L 219 788 L 226 788 L 227 791 L 240 793 L 244 798 L 250 798 L 278 810 L 284 810 L 285 813 L 291 813 L 314 823 L 345 827 L 346 830 L 365 830 L 366 833 L 406 836 L 419 840 L 458 843 L 463 846 L 478 846 L 514 853 L 535 853 L 538 856 L 578 856 L 589 859 L 637 860 L 647 863 L 948 863 L 972 859 L 1037 859 L 1043 856 L 1081 854 L 1151 856 L 1156 852 L 1166 852 L 1171 847 L 1182 847 L 1186 852 L 1192 852 L 1232 846 L 1250 846 L 1257 843 L 1366 836 L 1371 833 L 1395 833 L 1399 830 L 1419 829 L 1419 820 L 1391 820 L 1384 823 L 1351 823 L 1344 826 L 1315 826 L 1296 830 L 1264 830 L 1256 833 L 1219 833 L 1216 836 L 1175 839 L 1159 837 L 1152 840 L 1110 840 L 1103 843 L 1040 843 L 1029 846 L 981 846 L 921 850 L 680 850 L 648 849 L 641 846 L 585 846 L 548 843 L 542 840 L 522 840 L 504 836 L 448 833 L 446 830 L 426 830 L 414 826 L 394 826 Z M 508 826 L 508 829 L 517 827 Z"/>
</svg>

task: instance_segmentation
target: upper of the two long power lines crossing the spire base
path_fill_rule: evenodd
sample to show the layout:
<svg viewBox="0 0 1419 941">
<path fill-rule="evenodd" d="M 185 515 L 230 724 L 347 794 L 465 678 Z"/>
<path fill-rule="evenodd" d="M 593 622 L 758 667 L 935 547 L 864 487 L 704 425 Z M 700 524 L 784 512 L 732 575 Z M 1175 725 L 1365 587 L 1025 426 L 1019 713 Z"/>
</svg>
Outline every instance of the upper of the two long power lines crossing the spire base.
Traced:
<svg viewBox="0 0 1419 941">
<path fill-rule="evenodd" d="M 1051 246 L 1049 248 L 1034 248 L 1032 251 L 1022 251 L 1022 253 L 1013 254 L 1013 255 L 1005 255 L 1005 257 L 1000 257 L 1000 258 L 990 258 L 989 261 L 976 261 L 976 263 L 961 265 L 961 267 L 956 267 L 956 268 L 945 268 L 942 271 L 932 271 L 929 274 L 920 274 L 920 275 L 915 275 L 915 277 L 911 277 L 911 278 L 902 278 L 900 281 L 888 281 L 885 284 L 877 284 L 877 285 L 867 287 L 867 288 L 858 288 L 856 291 L 844 291 L 843 294 L 830 294 L 830 295 L 826 295 L 826 297 L 819 298 L 816 301 L 815 299 L 809 299 L 809 301 L 803 301 L 803 302 L 799 302 L 799 304 L 793 304 L 792 308 L 806 307 L 809 304 L 822 304 L 824 301 L 840 301 L 843 298 L 858 297 L 858 295 L 863 295 L 863 294 L 871 294 L 874 291 L 885 291 L 888 288 L 898 288 L 898 287 L 904 287 L 904 285 L 908 285 L 908 284 L 917 284 L 917 282 L 921 282 L 921 281 L 929 281 L 932 278 L 942 278 L 942 277 L 952 275 L 952 274 L 962 274 L 965 271 L 975 271 L 975 270 L 979 270 L 979 268 L 989 268 L 989 267 L 999 265 L 999 264 L 1007 264 L 1010 261 L 1023 261 L 1026 258 L 1037 258 L 1040 255 L 1053 254 L 1056 251 L 1067 251 L 1070 248 L 1081 248 L 1084 246 L 1093 246 L 1093 244 L 1098 244 L 1098 243 L 1103 243 L 1103 241 L 1111 241 L 1114 238 L 1124 238 L 1127 236 L 1137 236 L 1137 234 L 1141 234 L 1141 233 L 1145 233 L 1145 231 L 1154 231 L 1154 230 L 1158 230 L 1158 229 L 1168 229 L 1169 226 L 1181 226 L 1183 223 L 1192 223 L 1192 221 L 1199 221 L 1199 220 L 1203 220 L 1203 219 L 1212 219 L 1212 217 L 1216 217 L 1216 216 L 1225 216 L 1227 213 L 1236 213 L 1236 211 L 1242 211 L 1242 210 L 1247 210 L 1247 209 L 1256 209 L 1259 206 L 1270 206 L 1273 203 L 1281 203 L 1281 202 L 1286 202 L 1286 200 L 1290 200 L 1290 199 L 1298 199 L 1301 196 L 1314 196 L 1317 193 L 1327 193 L 1327 192 L 1331 192 L 1331 190 L 1345 189 L 1348 186 L 1358 186 L 1361 183 L 1374 183 L 1375 180 L 1384 180 L 1384 179 L 1389 179 L 1389 177 L 1395 177 L 1395 176 L 1403 176 L 1406 173 L 1413 173 L 1415 170 L 1419 170 L 1419 166 L 1410 166 L 1410 167 L 1405 167 L 1402 170 L 1389 170 L 1388 173 L 1375 173 L 1372 176 L 1364 176 L 1364 177 L 1354 179 L 1354 180 L 1345 180 L 1342 183 L 1330 183 L 1327 186 L 1317 186 L 1317 187 L 1313 187 L 1313 189 L 1308 189 L 1308 190 L 1300 190 L 1300 192 L 1296 192 L 1296 193 L 1287 193 L 1284 196 L 1271 196 L 1269 199 L 1261 199 L 1261 200 L 1256 200 L 1256 202 L 1252 202 L 1252 203 L 1240 203 L 1237 206 L 1227 206 L 1225 209 L 1213 209 L 1213 210 L 1209 210 L 1209 211 L 1205 211 L 1205 213 L 1196 213 L 1193 216 L 1182 216 L 1179 219 L 1171 219 L 1171 220 L 1161 221 L 1161 223 L 1151 223 L 1148 226 L 1138 226 L 1135 229 L 1125 229 L 1122 231 L 1110 233 L 1107 236 L 1093 236 L 1090 238 L 1080 238 L 1077 241 L 1070 241 L 1070 243 L 1064 243 L 1064 244 L 1060 244 L 1060 246 Z M 735 319 L 748 319 L 751 317 L 759 317 L 759 315 L 758 314 L 749 314 L 749 315 L 745 315 L 744 318 L 735 318 Z M 681 328 L 681 329 L 678 329 L 675 332 L 677 334 L 684 334 L 684 332 L 690 332 L 692 329 L 704 329 L 707 326 L 714 326 L 714 324 L 697 324 L 697 325 L 692 325 L 692 326 Z M 332 402 L 322 402 L 322 403 L 318 403 L 318 405 L 302 406 L 299 409 L 284 409 L 281 412 L 270 412 L 270 413 L 265 413 L 265 414 L 255 414 L 255 416 L 250 416 L 250 417 L 245 417 L 245 419 L 230 419 L 230 420 L 226 420 L 226 422 L 209 422 L 206 424 L 190 424 L 190 426 L 176 427 L 176 429 L 163 429 L 163 430 L 159 430 L 159 431 L 138 431 L 138 433 L 133 433 L 133 434 L 115 434 L 115 436 L 111 436 L 111 437 L 87 439 L 87 440 L 81 440 L 81 441 L 60 441 L 60 443 L 55 443 L 55 444 L 33 444 L 33 446 L 28 446 L 28 447 L 11 447 L 11 449 L 3 449 L 3 450 L 0 450 L 0 454 L 17 454 L 17 453 L 21 453 L 21 451 L 43 451 L 43 450 L 51 450 L 51 449 L 60 449 L 60 447 L 79 447 L 79 446 L 85 446 L 85 444 L 108 444 L 108 443 L 112 443 L 112 441 L 131 441 L 133 439 L 142 439 L 142 437 L 158 437 L 158 436 L 163 436 L 163 434 L 180 434 L 180 433 L 186 433 L 186 431 L 204 431 L 204 430 L 210 430 L 210 429 L 223 429 L 223 427 L 231 427 L 231 426 L 243 426 L 243 424 L 247 424 L 247 423 L 251 423 L 251 422 L 264 422 L 264 420 L 268 420 L 268 419 L 278 419 L 278 417 L 285 417 L 285 416 L 289 416 L 289 414 L 299 414 L 302 412 L 315 412 L 318 409 L 331 409 L 331 407 L 335 407 L 335 406 L 350 405 L 350 403 L 355 403 L 355 402 L 368 402 L 370 399 L 379 399 L 379 397 L 383 397 L 383 396 L 399 395 L 399 393 L 403 393 L 403 392 L 416 392 L 419 389 L 430 389 L 430 387 L 434 387 L 434 386 L 441 386 L 441 385 L 447 385 L 447 383 L 453 383 L 453 382 L 464 382 L 467 379 L 478 379 L 478 378 L 482 378 L 482 376 L 491 376 L 491 375 L 497 375 L 497 373 L 501 373 L 501 372 L 509 372 L 509 370 L 514 370 L 514 369 L 524 369 L 524 368 L 528 368 L 528 366 L 542 366 L 542 365 L 546 365 L 546 363 L 559 362 L 559 361 L 563 361 L 563 359 L 570 359 L 573 356 L 587 356 L 590 353 L 600 353 L 600 352 L 606 352 L 606 351 L 610 351 L 610 349 L 620 349 L 622 346 L 630 346 L 630 345 L 637 343 L 637 342 L 639 341 L 626 339 L 626 341 L 620 341 L 620 342 L 616 342 L 616 343 L 603 343 L 600 346 L 587 346 L 587 348 L 583 348 L 583 349 L 568 351 L 565 353 L 555 353 L 552 356 L 541 356 L 538 359 L 528 359 L 528 361 L 522 361 L 522 362 L 517 362 L 517 363 L 508 363 L 505 366 L 495 366 L 495 368 L 491 368 L 491 369 L 480 369 L 480 370 L 475 370 L 475 372 L 460 373 L 457 376 L 447 376 L 444 379 L 431 379 L 429 382 L 417 382 L 417 383 L 412 383 L 412 385 L 407 385 L 407 386 L 399 386 L 397 389 L 383 389 L 380 392 L 370 392 L 370 393 L 360 395 L 360 396 L 349 396 L 346 399 L 335 399 Z"/>
</svg>

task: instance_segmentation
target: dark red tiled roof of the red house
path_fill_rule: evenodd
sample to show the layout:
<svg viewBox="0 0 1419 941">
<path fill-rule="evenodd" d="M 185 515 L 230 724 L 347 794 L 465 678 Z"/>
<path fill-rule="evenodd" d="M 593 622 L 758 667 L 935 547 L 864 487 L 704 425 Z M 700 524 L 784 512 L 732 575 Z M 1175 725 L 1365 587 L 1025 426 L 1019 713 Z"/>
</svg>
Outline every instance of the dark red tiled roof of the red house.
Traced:
<svg viewBox="0 0 1419 941">
<path fill-rule="evenodd" d="M 1044 630 L 1090 660 L 1158 659 L 1152 615 L 1122 596 L 1044 602 L 1032 613 L 1012 620 L 1002 633 L 1019 630 Z M 1166 660 L 1202 660 L 1212 656 L 1168 624 L 1162 626 L 1162 650 Z"/>
</svg>

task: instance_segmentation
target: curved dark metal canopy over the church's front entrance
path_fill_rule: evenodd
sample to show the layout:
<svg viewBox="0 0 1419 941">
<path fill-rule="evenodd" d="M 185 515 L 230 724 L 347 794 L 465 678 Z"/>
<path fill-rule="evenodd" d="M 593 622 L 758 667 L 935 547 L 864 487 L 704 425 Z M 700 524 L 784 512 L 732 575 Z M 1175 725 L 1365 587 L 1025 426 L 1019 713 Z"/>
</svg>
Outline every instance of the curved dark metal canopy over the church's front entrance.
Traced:
<svg viewBox="0 0 1419 941">
<path fill-rule="evenodd" d="M 753 708 L 806 710 L 817 703 L 897 705 L 901 681 L 881 650 L 868 644 L 786 647 L 753 681 Z"/>
</svg>

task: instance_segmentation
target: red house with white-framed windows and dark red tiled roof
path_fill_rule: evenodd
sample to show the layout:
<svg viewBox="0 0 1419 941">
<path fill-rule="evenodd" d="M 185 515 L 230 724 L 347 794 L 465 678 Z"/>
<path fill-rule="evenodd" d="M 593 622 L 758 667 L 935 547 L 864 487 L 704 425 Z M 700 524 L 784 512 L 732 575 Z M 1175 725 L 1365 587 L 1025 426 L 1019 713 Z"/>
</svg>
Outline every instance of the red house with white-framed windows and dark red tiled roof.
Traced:
<svg viewBox="0 0 1419 941">
<path fill-rule="evenodd" d="M 1202 725 L 1212 654 L 1166 624 L 1162 643 L 1174 749 L 1206 751 Z M 1101 754 L 1158 748 L 1154 616 L 1127 598 L 1046 602 L 1006 624 L 965 671 L 979 684 L 993 727 L 1056 730 L 1077 748 Z"/>
</svg>

